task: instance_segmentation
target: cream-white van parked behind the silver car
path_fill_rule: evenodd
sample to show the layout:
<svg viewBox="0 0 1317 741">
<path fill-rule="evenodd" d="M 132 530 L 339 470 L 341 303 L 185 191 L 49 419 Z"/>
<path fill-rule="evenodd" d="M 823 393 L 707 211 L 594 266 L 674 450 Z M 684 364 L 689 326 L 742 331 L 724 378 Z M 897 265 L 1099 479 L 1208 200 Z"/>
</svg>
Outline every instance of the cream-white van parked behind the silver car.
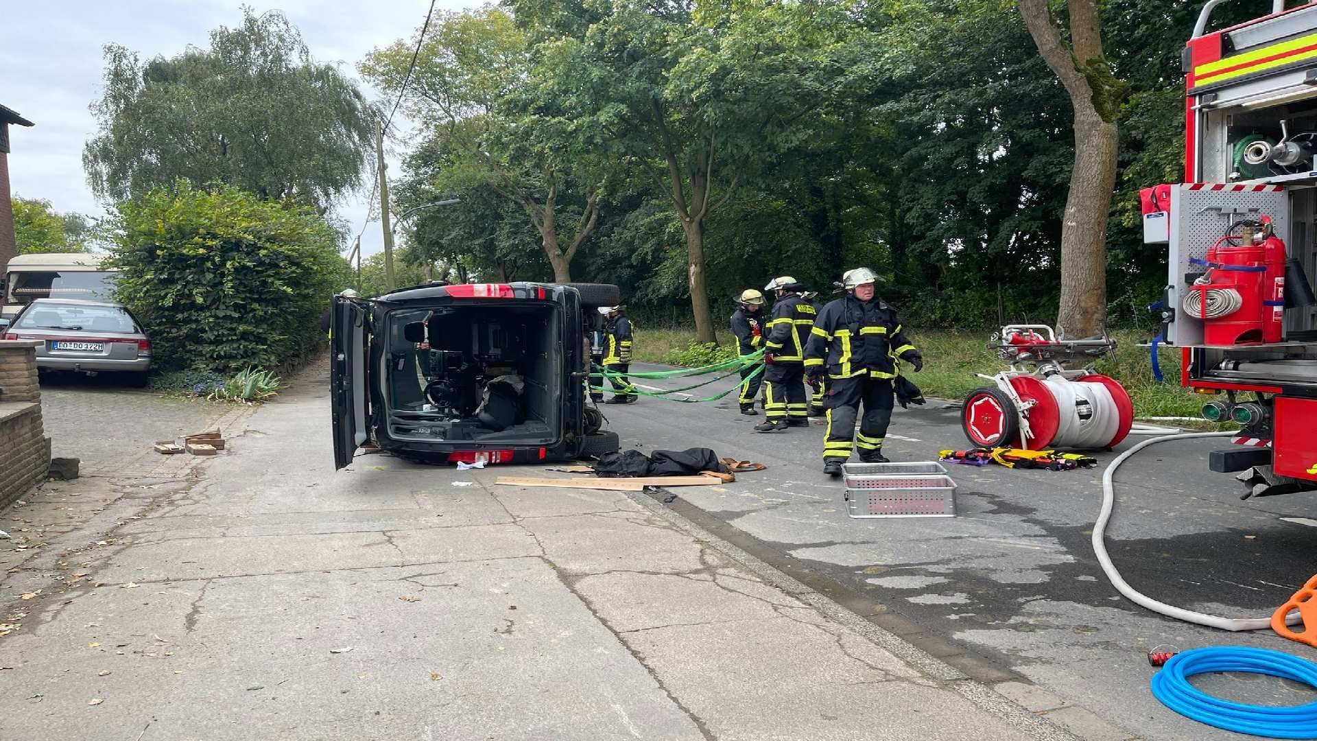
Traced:
<svg viewBox="0 0 1317 741">
<path fill-rule="evenodd" d="M 113 301 L 115 274 L 91 252 L 20 254 L 9 260 L 4 276 L 4 306 L 0 327 L 38 298 Z"/>
</svg>

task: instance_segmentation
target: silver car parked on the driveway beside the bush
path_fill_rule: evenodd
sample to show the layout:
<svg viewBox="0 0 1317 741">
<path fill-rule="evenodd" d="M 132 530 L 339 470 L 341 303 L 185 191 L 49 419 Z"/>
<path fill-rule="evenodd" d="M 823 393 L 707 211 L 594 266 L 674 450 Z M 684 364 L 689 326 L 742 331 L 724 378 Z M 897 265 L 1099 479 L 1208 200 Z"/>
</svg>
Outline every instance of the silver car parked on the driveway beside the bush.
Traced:
<svg viewBox="0 0 1317 741">
<path fill-rule="evenodd" d="M 7 340 L 43 340 L 37 368 L 80 373 L 132 373 L 145 384 L 151 340 L 128 309 L 103 301 L 38 298 L 5 330 Z"/>
</svg>

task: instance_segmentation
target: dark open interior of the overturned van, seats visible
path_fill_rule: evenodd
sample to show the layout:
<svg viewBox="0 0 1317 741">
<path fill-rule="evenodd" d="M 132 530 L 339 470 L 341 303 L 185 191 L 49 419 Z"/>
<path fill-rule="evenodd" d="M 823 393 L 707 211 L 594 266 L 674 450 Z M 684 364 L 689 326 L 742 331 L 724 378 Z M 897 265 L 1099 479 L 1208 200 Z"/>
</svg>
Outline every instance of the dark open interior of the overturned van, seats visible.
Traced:
<svg viewBox="0 0 1317 741">
<path fill-rule="evenodd" d="M 390 312 L 382 359 L 390 435 L 556 443 L 564 392 L 557 314 L 543 303 Z"/>
</svg>

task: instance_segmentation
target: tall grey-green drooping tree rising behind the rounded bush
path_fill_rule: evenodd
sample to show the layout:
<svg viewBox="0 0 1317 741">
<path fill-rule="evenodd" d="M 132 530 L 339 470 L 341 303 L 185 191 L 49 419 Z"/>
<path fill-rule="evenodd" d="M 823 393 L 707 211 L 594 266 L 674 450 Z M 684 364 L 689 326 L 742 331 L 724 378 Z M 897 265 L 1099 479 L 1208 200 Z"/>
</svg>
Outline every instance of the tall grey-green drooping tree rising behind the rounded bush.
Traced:
<svg viewBox="0 0 1317 741">
<path fill-rule="evenodd" d="M 282 13 L 245 8 L 240 26 L 211 32 L 209 49 L 146 63 L 108 45 L 104 79 L 91 105 L 99 133 L 83 150 L 100 198 L 188 178 L 325 211 L 361 183 L 370 108 Z"/>
</svg>

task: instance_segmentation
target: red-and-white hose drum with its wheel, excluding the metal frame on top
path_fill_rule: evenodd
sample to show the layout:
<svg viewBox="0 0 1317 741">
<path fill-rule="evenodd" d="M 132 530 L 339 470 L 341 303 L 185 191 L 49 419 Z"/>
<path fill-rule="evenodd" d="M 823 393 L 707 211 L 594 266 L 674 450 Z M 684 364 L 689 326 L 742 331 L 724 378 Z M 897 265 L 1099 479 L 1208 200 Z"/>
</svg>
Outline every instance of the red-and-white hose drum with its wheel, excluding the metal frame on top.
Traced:
<svg viewBox="0 0 1317 741">
<path fill-rule="evenodd" d="M 1062 373 L 1039 377 L 1008 374 L 1015 396 L 1026 405 L 1029 429 L 1022 439 L 1021 411 L 998 388 L 969 392 L 961 411 L 965 436 L 979 447 L 1109 448 L 1130 434 L 1134 403 L 1129 392 L 1109 376 L 1089 373 L 1073 380 Z"/>
</svg>

